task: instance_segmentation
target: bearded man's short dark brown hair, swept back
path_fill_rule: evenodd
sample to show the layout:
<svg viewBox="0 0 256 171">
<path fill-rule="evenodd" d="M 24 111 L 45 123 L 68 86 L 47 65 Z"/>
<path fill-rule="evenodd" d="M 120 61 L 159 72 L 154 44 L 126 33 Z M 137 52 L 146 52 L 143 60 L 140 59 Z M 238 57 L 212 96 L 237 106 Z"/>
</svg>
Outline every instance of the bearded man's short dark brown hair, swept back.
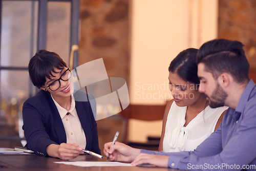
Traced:
<svg viewBox="0 0 256 171">
<path fill-rule="evenodd" d="M 197 64 L 204 63 L 205 71 L 217 79 L 229 73 L 238 83 L 249 80 L 249 62 L 240 41 L 214 39 L 205 42 L 197 54 Z"/>
</svg>

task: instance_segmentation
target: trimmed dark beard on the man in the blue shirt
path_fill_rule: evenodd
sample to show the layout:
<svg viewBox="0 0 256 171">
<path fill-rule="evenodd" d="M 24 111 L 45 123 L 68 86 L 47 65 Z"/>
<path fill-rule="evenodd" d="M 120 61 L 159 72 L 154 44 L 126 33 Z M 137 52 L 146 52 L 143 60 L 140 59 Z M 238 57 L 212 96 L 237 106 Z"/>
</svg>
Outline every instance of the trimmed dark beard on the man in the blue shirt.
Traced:
<svg viewBox="0 0 256 171">
<path fill-rule="evenodd" d="M 209 98 L 209 96 L 207 96 Z M 209 106 L 211 108 L 219 108 L 225 105 L 225 100 L 227 98 L 227 93 L 222 89 L 219 82 L 216 84 L 216 88 L 212 93 L 211 98 L 209 98 Z"/>
</svg>

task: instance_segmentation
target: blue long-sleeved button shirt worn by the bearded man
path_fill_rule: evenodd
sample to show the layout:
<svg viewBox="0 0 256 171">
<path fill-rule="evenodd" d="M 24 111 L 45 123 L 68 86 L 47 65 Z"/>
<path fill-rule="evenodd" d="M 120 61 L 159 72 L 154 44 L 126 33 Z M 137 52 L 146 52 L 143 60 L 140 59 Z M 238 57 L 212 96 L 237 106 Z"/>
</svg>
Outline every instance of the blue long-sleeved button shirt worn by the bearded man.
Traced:
<svg viewBox="0 0 256 171">
<path fill-rule="evenodd" d="M 235 93 L 235 92 L 234 92 Z M 168 166 L 186 170 L 256 170 L 256 87 L 247 84 L 236 109 L 228 108 L 217 131 L 191 152 L 170 156 Z"/>
</svg>

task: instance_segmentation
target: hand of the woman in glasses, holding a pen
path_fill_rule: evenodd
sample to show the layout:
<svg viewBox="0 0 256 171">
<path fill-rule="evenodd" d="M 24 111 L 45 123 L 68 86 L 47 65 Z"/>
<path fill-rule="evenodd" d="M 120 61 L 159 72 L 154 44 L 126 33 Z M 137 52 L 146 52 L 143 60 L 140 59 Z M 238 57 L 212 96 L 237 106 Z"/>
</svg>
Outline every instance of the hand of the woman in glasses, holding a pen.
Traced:
<svg viewBox="0 0 256 171">
<path fill-rule="evenodd" d="M 62 160 L 70 160 L 74 159 L 79 154 L 83 154 L 82 148 L 79 147 L 79 145 L 73 143 L 73 144 L 67 144 L 67 143 L 61 143 L 60 145 L 57 144 L 50 144 L 46 148 L 46 152 L 51 157 L 57 157 Z"/>
</svg>

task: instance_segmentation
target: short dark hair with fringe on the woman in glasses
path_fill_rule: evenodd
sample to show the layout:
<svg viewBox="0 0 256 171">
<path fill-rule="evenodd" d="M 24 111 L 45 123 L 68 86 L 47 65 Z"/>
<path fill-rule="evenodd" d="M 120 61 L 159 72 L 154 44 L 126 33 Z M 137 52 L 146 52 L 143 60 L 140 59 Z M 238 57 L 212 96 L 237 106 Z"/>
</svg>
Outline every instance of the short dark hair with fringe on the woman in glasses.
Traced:
<svg viewBox="0 0 256 171">
<path fill-rule="evenodd" d="M 46 83 L 46 78 L 53 77 L 55 69 L 61 70 L 66 63 L 54 52 L 38 50 L 29 61 L 29 76 L 35 87 L 40 88 Z"/>
</svg>

